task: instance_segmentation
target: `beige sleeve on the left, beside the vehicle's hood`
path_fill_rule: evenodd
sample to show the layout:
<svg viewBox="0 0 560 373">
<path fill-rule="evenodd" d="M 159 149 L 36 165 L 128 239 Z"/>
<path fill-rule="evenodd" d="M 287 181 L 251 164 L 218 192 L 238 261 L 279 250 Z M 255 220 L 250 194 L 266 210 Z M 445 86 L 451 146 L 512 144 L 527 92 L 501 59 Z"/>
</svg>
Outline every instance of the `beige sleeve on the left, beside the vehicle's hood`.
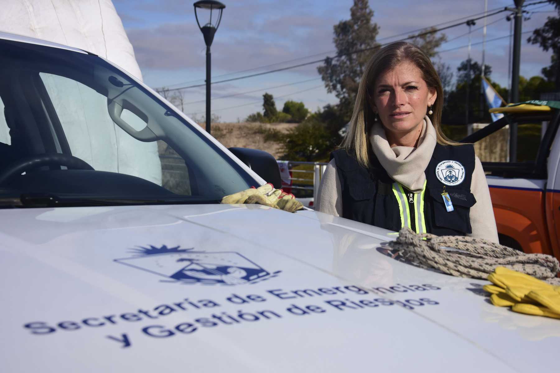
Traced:
<svg viewBox="0 0 560 373">
<path fill-rule="evenodd" d="M 342 215 L 342 188 L 334 159 L 326 165 L 317 191 L 315 210 L 334 216 Z"/>
</svg>

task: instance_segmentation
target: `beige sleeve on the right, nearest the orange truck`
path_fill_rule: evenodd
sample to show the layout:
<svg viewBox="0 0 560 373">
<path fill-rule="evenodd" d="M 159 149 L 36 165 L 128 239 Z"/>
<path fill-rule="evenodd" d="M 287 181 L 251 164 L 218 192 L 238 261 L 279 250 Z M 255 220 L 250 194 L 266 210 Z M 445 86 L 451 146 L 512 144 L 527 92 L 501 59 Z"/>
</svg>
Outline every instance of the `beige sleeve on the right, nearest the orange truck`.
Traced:
<svg viewBox="0 0 560 373">
<path fill-rule="evenodd" d="M 470 191 L 474 194 L 477 202 L 470 208 L 470 225 L 473 228 L 473 233 L 469 236 L 498 242 L 498 229 L 496 228 L 496 219 L 494 219 L 488 182 L 478 157 L 475 157 Z"/>
</svg>

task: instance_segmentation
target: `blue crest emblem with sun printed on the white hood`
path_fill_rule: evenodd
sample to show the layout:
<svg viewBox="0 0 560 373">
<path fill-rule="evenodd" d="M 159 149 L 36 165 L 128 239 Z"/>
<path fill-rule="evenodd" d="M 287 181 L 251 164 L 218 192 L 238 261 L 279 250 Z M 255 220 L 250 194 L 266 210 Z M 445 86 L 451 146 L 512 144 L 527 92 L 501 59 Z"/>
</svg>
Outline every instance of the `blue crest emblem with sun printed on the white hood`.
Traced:
<svg viewBox="0 0 560 373">
<path fill-rule="evenodd" d="M 114 259 L 115 262 L 167 277 L 163 282 L 181 284 L 255 284 L 278 276 L 234 251 L 205 252 L 179 246 L 139 247 L 134 256 Z"/>
</svg>

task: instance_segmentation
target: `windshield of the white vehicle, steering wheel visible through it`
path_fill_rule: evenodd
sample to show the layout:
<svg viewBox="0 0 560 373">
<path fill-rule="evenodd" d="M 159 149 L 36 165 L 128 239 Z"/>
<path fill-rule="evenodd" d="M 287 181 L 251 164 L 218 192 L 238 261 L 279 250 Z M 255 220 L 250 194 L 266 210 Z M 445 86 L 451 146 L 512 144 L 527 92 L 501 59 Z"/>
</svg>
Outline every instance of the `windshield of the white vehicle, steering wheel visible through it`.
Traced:
<svg viewBox="0 0 560 373">
<path fill-rule="evenodd" d="M 217 201 L 255 180 L 95 55 L 0 40 L 0 199 Z"/>
</svg>

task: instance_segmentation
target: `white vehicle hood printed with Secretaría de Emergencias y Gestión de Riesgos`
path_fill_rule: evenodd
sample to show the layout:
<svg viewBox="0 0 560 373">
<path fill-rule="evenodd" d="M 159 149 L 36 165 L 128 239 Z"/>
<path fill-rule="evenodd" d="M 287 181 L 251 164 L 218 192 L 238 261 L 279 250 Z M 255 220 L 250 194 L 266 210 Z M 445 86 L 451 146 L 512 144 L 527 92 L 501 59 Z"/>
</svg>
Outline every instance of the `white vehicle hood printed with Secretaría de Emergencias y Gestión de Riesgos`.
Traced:
<svg viewBox="0 0 560 373">
<path fill-rule="evenodd" d="M 3 372 L 556 371 L 558 320 L 259 205 L 1 210 Z"/>
</svg>

